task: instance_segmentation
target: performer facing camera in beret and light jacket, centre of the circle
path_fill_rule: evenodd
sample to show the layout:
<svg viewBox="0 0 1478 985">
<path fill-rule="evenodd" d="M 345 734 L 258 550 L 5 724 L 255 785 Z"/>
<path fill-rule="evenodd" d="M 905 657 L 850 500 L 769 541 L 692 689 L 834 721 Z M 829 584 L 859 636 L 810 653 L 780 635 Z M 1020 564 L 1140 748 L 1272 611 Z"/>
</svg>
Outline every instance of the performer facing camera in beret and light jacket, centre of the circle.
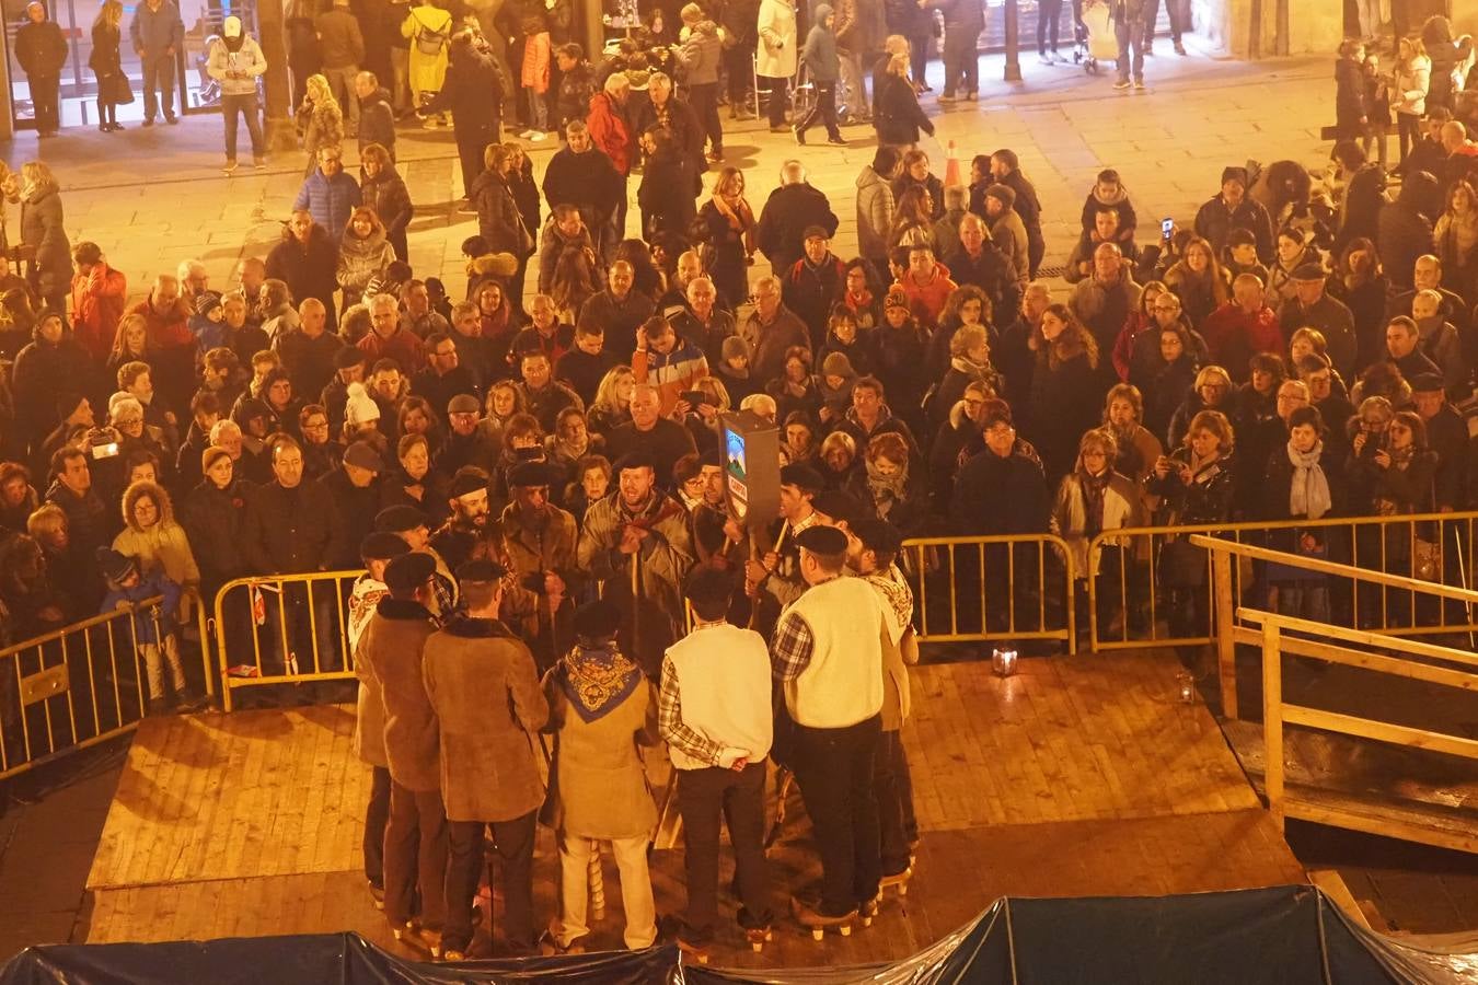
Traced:
<svg viewBox="0 0 1478 985">
<path fill-rule="evenodd" d="M 656 679 L 683 626 L 680 586 L 693 564 L 687 512 L 656 487 L 656 467 L 640 452 L 616 461 L 615 486 L 585 511 L 576 558 L 625 613 L 622 651 Z"/>
</svg>

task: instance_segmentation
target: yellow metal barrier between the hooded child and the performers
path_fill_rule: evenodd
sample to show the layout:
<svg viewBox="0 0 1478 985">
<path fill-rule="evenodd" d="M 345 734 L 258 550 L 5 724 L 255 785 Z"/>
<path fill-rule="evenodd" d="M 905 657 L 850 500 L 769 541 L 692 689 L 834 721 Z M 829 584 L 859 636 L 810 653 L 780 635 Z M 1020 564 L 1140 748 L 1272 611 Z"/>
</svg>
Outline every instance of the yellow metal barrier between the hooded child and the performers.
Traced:
<svg viewBox="0 0 1478 985">
<path fill-rule="evenodd" d="M 222 707 L 263 684 L 353 679 L 349 592 L 359 572 L 238 577 L 216 592 Z"/>
</svg>

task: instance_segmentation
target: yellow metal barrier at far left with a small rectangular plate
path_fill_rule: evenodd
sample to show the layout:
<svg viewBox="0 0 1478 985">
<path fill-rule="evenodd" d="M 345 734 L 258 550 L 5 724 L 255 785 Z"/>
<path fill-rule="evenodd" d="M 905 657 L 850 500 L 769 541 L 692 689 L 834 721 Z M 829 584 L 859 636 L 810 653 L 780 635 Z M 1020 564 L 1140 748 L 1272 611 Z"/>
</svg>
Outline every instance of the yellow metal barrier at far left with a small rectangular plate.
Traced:
<svg viewBox="0 0 1478 985">
<path fill-rule="evenodd" d="M 0 780 L 121 735 L 148 710 L 134 616 L 160 632 L 154 597 L 0 650 Z"/>
</svg>

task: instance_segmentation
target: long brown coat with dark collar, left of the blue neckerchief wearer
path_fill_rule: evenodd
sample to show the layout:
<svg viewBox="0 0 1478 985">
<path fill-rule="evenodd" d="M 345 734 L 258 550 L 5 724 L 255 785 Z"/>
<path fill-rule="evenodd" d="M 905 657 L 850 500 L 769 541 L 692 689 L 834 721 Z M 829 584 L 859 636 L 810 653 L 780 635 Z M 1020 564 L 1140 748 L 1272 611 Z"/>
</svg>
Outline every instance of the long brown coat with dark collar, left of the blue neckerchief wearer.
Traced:
<svg viewBox="0 0 1478 985">
<path fill-rule="evenodd" d="M 495 619 L 454 619 L 426 641 L 448 821 L 511 821 L 539 806 L 534 732 L 548 721 L 534 656 Z"/>
</svg>

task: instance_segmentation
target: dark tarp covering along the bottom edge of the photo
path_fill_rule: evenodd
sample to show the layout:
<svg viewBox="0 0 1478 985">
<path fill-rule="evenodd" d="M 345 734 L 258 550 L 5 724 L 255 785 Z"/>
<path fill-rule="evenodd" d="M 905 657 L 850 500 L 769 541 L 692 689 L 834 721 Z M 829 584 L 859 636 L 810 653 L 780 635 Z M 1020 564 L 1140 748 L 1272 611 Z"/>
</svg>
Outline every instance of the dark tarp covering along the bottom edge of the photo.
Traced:
<svg viewBox="0 0 1478 985">
<path fill-rule="evenodd" d="M 0 985 L 1386 985 L 1478 982 L 1478 953 L 1423 950 L 1349 923 L 1312 886 L 1185 896 L 998 899 L 959 930 L 893 964 L 721 970 L 686 964 L 674 947 L 551 958 L 424 964 L 356 933 L 204 944 L 27 948 Z"/>
</svg>

